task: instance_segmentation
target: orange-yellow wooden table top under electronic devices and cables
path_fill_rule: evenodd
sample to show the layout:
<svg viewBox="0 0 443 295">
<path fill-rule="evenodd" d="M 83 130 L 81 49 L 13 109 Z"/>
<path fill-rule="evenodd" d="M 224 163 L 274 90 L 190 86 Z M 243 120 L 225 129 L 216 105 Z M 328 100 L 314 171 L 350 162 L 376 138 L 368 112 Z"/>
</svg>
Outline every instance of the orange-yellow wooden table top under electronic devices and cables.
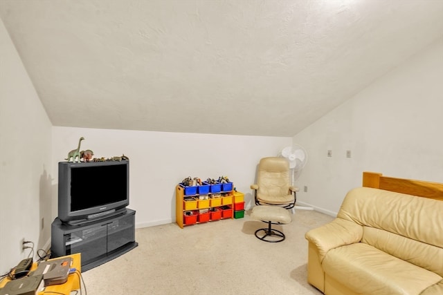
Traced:
<svg viewBox="0 0 443 295">
<path fill-rule="evenodd" d="M 73 258 L 73 265 L 71 268 L 75 268 L 79 272 L 82 271 L 82 269 L 81 269 L 81 265 L 82 265 L 81 260 L 82 259 L 81 259 L 80 253 L 68 255 L 66 257 Z M 60 258 L 61 257 L 57 257 L 54 259 L 49 259 L 48 261 L 56 260 L 56 259 L 60 259 Z M 32 272 L 35 269 L 37 269 L 37 266 L 38 266 L 37 263 L 33 263 L 33 266 L 30 268 L 30 271 Z M 10 281 L 10 278 L 4 278 L 0 283 L 0 288 L 3 287 L 4 285 L 6 285 L 6 283 L 8 283 L 9 281 Z M 39 295 L 51 294 L 51 292 L 54 292 L 53 294 L 59 293 L 59 294 L 69 295 L 69 294 L 71 294 L 71 291 L 74 291 L 76 289 L 80 289 L 80 274 L 74 273 L 74 274 L 70 274 L 68 276 L 68 280 L 66 280 L 66 283 L 45 287 L 44 292 L 39 292 Z"/>
</svg>

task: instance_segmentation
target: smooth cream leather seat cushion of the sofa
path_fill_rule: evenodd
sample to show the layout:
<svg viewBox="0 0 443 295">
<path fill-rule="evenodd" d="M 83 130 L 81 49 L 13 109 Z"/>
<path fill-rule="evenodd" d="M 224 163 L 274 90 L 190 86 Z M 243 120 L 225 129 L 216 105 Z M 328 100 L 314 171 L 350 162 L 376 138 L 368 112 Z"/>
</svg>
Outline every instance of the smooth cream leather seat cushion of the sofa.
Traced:
<svg viewBox="0 0 443 295">
<path fill-rule="evenodd" d="M 442 277 L 363 242 L 327 252 L 323 269 L 358 294 L 420 294 Z"/>
</svg>

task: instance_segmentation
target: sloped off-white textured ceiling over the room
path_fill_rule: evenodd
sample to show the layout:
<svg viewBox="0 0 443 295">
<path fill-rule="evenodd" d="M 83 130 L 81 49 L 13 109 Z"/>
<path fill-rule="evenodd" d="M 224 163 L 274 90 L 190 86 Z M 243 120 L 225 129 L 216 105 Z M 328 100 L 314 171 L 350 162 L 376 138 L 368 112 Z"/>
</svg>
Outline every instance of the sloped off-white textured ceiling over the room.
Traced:
<svg viewBox="0 0 443 295">
<path fill-rule="evenodd" d="M 55 126 L 292 136 L 443 37 L 443 0 L 0 0 Z"/>
</svg>

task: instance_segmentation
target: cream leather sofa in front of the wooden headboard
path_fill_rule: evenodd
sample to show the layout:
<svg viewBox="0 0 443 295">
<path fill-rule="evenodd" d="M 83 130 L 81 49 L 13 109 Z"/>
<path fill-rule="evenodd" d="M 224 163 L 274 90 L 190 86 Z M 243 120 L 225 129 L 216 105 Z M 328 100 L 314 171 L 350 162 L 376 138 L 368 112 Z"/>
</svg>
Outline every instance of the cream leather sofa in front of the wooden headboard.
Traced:
<svg viewBox="0 0 443 295">
<path fill-rule="evenodd" d="M 327 295 L 443 294 L 443 202 L 361 187 L 305 235 L 308 282 Z"/>
</svg>

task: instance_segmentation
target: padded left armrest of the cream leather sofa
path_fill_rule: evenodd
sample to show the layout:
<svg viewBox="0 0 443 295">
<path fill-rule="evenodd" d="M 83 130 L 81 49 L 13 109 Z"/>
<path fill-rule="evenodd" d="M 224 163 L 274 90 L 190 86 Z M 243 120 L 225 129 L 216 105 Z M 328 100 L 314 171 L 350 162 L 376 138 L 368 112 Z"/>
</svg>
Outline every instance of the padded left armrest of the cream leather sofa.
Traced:
<svg viewBox="0 0 443 295">
<path fill-rule="evenodd" d="M 320 261 L 323 261 L 331 249 L 360 242 L 363 227 L 355 222 L 336 218 L 321 227 L 311 229 L 305 238 L 316 245 Z"/>
</svg>

